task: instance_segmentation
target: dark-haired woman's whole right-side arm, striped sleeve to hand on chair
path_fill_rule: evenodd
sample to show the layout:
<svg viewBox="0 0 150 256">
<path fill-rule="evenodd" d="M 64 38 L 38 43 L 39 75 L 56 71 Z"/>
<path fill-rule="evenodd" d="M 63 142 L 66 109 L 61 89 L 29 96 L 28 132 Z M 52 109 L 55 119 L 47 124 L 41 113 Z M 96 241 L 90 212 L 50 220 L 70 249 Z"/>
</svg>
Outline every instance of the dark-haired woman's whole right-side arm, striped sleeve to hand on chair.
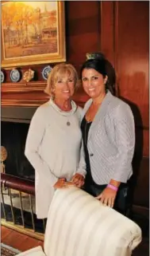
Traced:
<svg viewBox="0 0 150 256">
<path fill-rule="evenodd" d="M 126 183 L 129 179 L 129 170 L 133 160 L 133 152 L 135 147 L 135 126 L 133 113 L 128 105 L 120 105 L 114 115 L 115 136 L 117 144 L 117 160 L 114 166 L 110 186 L 106 187 L 97 199 L 102 203 L 113 207 L 117 188 L 121 182 Z M 113 186 L 112 186 L 113 185 Z"/>
</svg>

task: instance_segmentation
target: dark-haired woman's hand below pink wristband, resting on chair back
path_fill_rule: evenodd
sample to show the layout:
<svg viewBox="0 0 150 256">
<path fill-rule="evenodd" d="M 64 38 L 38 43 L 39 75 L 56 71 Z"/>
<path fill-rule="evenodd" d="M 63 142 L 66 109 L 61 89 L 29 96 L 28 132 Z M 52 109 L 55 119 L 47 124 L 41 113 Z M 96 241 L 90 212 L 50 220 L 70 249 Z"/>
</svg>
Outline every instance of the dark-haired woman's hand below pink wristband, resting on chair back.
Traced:
<svg viewBox="0 0 150 256">
<path fill-rule="evenodd" d="M 112 188 L 106 187 L 96 199 L 99 199 L 104 205 L 113 208 L 116 195 L 117 191 L 113 191 Z"/>
</svg>

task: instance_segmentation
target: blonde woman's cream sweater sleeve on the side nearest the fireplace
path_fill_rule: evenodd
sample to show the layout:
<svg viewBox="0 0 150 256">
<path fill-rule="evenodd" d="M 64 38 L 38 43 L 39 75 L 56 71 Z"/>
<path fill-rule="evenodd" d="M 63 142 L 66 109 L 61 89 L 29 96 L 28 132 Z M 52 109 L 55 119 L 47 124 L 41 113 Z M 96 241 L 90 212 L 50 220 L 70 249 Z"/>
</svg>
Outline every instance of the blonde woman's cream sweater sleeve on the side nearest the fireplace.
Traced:
<svg viewBox="0 0 150 256">
<path fill-rule="evenodd" d="M 52 174 L 48 163 L 45 163 L 38 153 L 38 149 L 44 138 L 46 118 L 43 109 L 41 107 L 37 108 L 29 126 L 25 143 L 25 156 L 33 165 L 33 168 L 40 174 L 40 179 L 44 179 L 44 182 L 53 186 L 58 178 Z M 45 150 L 49 150 L 49 148 L 45 148 Z"/>
</svg>

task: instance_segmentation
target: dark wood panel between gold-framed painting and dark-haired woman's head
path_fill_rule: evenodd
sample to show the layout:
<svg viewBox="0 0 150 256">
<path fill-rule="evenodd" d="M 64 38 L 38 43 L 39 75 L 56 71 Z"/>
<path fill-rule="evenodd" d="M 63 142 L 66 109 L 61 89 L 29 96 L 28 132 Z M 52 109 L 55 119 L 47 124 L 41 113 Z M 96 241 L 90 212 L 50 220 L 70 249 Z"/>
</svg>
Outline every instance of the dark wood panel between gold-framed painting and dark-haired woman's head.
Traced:
<svg viewBox="0 0 150 256">
<path fill-rule="evenodd" d="M 67 61 L 79 67 L 86 53 L 100 50 L 100 2 L 66 1 Z"/>
</svg>

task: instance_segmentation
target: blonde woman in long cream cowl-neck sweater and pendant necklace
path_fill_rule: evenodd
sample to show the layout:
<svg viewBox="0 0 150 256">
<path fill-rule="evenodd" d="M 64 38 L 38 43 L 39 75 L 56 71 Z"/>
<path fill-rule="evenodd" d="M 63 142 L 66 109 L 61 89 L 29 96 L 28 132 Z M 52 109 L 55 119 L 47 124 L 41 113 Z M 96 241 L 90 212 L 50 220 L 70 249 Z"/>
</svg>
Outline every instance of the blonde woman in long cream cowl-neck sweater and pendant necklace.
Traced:
<svg viewBox="0 0 150 256">
<path fill-rule="evenodd" d="M 33 115 L 25 144 L 25 156 L 35 169 L 36 212 L 48 216 L 56 188 L 72 181 L 82 187 L 86 175 L 79 108 L 72 96 L 78 75 L 70 64 L 56 65 L 48 76 L 45 92 L 50 96 Z"/>
</svg>

